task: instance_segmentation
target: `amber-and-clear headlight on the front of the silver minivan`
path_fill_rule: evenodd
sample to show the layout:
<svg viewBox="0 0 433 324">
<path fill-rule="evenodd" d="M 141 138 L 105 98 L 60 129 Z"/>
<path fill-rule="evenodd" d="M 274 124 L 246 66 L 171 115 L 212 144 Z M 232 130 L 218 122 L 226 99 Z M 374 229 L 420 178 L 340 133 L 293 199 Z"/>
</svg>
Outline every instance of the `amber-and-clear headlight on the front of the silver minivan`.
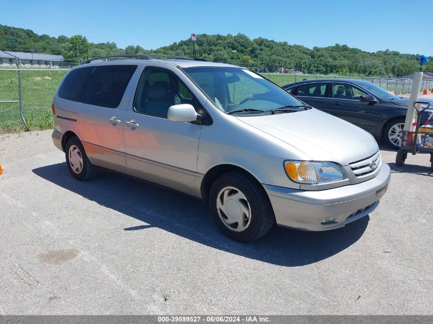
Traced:
<svg viewBox="0 0 433 324">
<path fill-rule="evenodd" d="M 346 179 L 343 169 L 332 162 L 285 161 L 284 169 L 297 183 L 319 184 Z"/>
</svg>

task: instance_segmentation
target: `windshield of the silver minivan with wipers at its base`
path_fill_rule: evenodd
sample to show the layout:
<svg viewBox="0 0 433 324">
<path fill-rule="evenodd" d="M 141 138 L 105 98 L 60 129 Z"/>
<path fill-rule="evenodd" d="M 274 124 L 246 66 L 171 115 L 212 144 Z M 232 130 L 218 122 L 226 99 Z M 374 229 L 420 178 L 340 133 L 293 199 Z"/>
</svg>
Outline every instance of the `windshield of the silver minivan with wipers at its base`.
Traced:
<svg viewBox="0 0 433 324">
<path fill-rule="evenodd" d="M 236 67 L 184 68 L 221 111 L 226 114 L 293 112 L 305 105 L 272 82 Z"/>
</svg>

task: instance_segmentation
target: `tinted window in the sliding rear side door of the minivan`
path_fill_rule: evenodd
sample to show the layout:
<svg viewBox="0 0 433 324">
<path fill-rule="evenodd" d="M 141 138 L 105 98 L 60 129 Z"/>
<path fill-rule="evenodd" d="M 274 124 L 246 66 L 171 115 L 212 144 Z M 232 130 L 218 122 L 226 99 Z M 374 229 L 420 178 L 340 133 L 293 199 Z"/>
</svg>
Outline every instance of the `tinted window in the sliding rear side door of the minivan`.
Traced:
<svg viewBox="0 0 433 324">
<path fill-rule="evenodd" d="M 136 69 L 134 65 L 96 67 L 87 82 L 81 102 L 116 108 Z"/>
</svg>

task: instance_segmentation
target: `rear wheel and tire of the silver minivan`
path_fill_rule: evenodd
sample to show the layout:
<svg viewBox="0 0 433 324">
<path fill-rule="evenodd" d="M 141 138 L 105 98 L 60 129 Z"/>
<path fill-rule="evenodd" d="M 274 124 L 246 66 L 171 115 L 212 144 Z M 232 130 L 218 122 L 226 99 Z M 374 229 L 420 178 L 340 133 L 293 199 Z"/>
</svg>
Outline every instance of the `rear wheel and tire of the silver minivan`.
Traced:
<svg viewBox="0 0 433 324">
<path fill-rule="evenodd" d="M 72 177 L 80 181 L 96 177 L 98 167 L 87 157 L 83 144 L 77 137 L 71 137 L 65 146 L 66 165 Z"/>
</svg>

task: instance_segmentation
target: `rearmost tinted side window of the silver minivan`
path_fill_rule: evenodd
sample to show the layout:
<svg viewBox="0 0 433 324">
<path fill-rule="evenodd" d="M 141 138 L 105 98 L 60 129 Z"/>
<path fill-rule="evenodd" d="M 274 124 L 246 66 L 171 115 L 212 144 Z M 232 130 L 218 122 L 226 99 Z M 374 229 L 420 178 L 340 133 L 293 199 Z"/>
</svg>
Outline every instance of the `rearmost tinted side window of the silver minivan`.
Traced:
<svg viewBox="0 0 433 324">
<path fill-rule="evenodd" d="M 60 85 L 58 96 L 67 100 L 80 101 L 86 82 L 94 68 L 80 68 L 69 72 Z"/>
</svg>

